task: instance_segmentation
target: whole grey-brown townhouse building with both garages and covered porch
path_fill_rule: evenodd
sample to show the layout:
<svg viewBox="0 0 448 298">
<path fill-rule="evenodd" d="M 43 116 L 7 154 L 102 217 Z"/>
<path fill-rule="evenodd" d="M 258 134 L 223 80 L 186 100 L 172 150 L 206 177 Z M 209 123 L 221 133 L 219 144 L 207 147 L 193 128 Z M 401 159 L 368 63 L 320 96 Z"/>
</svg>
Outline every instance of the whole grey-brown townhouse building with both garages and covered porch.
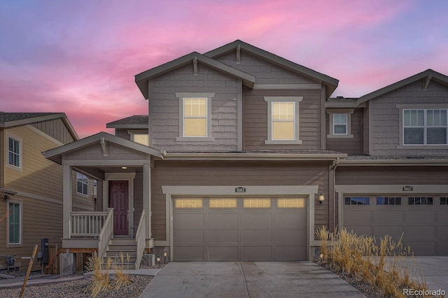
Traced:
<svg viewBox="0 0 448 298">
<path fill-rule="evenodd" d="M 309 260 L 327 226 L 404 232 L 417 254 L 448 254 L 447 76 L 330 98 L 335 78 L 235 41 L 135 80 L 148 116 L 45 152 L 64 167 L 64 248 L 107 256 L 130 238 L 137 266 L 143 248 L 169 260 Z M 109 214 L 83 241 L 69 225 L 73 169 L 99 181 Z"/>
</svg>

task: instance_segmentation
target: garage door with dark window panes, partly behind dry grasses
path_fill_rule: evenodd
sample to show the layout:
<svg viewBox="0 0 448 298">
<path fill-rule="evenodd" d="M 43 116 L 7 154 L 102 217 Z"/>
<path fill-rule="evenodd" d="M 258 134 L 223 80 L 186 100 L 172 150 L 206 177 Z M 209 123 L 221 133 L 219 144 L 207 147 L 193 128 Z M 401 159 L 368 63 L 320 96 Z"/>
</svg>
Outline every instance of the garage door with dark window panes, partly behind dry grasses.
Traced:
<svg viewBox="0 0 448 298">
<path fill-rule="evenodd" d="M 388 234 L 415 255 L 448 255 L 448 198 L 434 195 L 344 196 L 344 227 L 358 235 Z"/>
</svg>

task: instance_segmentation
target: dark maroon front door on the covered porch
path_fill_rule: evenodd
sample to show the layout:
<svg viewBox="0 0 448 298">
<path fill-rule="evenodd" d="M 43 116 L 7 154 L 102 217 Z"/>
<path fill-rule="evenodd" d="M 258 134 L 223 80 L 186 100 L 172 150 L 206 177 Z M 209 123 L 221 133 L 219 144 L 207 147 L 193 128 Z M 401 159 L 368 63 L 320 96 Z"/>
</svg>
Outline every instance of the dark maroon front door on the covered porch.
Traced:
<svg viewBox="0 0 448 298">
<path fill-rule="evenodd" d="M 109 207 L 113 208 L 113 234 L 128 235 L 129 192 L 127 181 L 109 181 Z"/>
</svg>

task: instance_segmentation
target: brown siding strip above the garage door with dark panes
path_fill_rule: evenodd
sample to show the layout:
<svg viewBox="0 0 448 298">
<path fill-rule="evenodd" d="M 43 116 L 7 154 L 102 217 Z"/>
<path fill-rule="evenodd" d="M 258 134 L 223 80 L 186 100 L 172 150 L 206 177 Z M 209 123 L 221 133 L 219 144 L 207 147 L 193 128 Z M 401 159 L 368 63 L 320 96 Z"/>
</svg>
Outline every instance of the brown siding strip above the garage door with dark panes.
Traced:
<svg viewBox="0 0 448 298">
<path fill-rule="evenodd" d="M 446 184 L 446 166 L 338 166 L 336 185 Z"/>
</svg>

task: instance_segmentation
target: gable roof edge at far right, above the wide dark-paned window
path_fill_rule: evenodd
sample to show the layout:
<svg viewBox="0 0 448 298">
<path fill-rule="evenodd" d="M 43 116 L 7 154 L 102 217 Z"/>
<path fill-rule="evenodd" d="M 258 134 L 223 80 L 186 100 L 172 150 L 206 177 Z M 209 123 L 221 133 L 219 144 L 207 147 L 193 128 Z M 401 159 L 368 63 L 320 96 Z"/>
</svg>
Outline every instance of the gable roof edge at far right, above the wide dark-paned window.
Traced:
<svg viewBox="0 0 448 298">
<path fill-rule="evenodd" d="M 375 97 L 379 97 L 383 94 L 396 90 L 400 87 L 404 87 L 405 85 L 409 85 L 410 83 L 414 83 L 417 80 L 425 79 L 425 87 L 428 86 L 430 80 L 434 80 L 437 83 L 441 83 L 442 85 L 448 86 L 448 76 L 443 75 L 442 73 L 438 73 L 437 71 L 433 71 L 433 69 L 427 69 L 421 73 L 417 73 L 414 76 L 410 76 L 409 78 L 405 78 L 404 80 L 400 80 L 397 83 L 393 83 L 386 87 L 382 87 L 379 90 L 374 92 L 370 92 L 369 94 L 365 94 L 364 96 L 358 99 L 358 105 L 362 104 L 365 101 L 369 101 L 370 99 L 374 99 Z"/>
</svg>

